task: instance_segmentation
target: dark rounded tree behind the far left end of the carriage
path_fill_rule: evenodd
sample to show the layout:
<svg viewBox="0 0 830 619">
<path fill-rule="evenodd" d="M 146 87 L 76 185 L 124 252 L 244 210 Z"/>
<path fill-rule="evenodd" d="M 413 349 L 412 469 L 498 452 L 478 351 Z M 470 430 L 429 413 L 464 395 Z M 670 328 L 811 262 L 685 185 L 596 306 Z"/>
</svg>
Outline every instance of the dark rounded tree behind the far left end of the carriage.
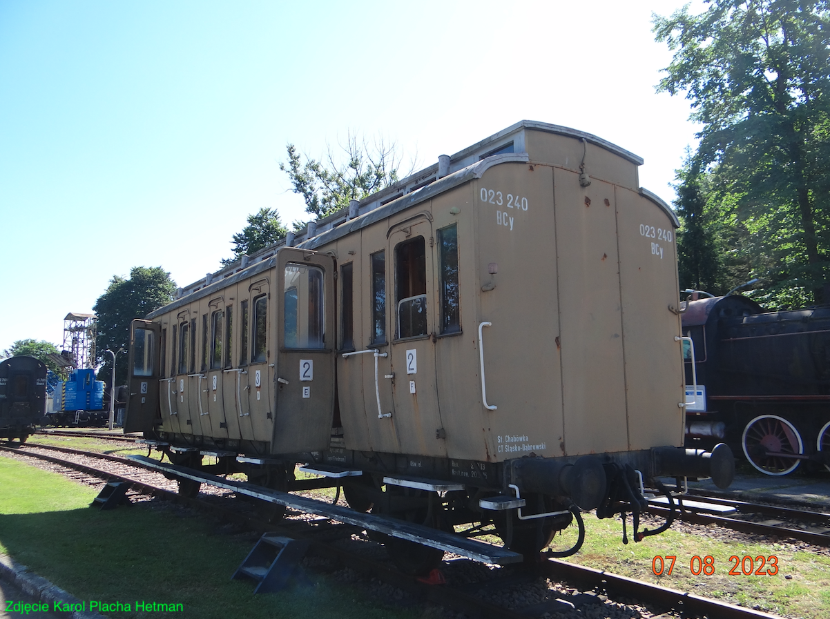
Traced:
<svg viewBox="0 0 830 619">
<path fill-rule="evenodd" d="M 103 365 L 98 376 L 109 381 L 112 375 L 112 355 L 124 348 L 115 364 L 115 384 L 126 383 L 129 325 L 135 318 L 144 318 L 162 305 L 173 300 L 176 283 L 160 266 L 134 266 L 129 279 L 113 275 L 105 293 L 98 297 L 92 308 L 98 314 L 98 334 L 95 337 L 97 361 Z"/>
</svg>

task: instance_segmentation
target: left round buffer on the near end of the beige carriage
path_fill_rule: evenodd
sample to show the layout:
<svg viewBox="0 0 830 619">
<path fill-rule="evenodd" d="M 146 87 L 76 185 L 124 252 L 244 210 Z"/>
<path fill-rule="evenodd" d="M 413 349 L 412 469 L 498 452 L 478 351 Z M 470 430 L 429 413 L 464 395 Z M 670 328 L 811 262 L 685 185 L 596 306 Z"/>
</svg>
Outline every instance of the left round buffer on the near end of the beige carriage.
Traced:
<svg viewBox="0 0 830 619">
<path fill-rule="evenodd" d="M 579 509 L 595 509 L 605 498 L 607 480 L 597 457 L 582 456 L 573 464 L 547 458 L 511 461 L 510 483 L 522 492 L 566 496 Z"/>
</svg>

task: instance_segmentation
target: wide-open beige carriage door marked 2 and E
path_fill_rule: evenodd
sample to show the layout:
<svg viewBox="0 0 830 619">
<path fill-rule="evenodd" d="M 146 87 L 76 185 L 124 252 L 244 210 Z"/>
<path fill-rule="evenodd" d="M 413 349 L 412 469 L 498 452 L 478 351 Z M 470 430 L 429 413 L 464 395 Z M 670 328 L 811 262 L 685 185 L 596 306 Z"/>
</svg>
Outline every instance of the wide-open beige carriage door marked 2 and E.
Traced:
<svg viewBox="0 0 830 619">
<path fill-rule="evenodd" d="M 334 414 L 334 260 L 277 253 L 276 414 L 271 451 L 322 451 Z"/>
</svg>

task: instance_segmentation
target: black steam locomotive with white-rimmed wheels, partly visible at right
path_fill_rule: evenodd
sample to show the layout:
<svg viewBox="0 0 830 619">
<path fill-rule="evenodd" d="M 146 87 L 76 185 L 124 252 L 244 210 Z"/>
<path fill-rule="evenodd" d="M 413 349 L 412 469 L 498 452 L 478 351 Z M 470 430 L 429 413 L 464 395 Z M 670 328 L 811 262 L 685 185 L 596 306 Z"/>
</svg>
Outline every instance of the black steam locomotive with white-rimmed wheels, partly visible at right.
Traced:
<svg viewBox="0 0 830 619">
<path fill-rule="evenodd" d="M 682 324 L 686 446 L 725 440 L 767 475 L 805 460 L 830 470 L 830 308 L 710 297 L 690 300 Z"/>
</svg>

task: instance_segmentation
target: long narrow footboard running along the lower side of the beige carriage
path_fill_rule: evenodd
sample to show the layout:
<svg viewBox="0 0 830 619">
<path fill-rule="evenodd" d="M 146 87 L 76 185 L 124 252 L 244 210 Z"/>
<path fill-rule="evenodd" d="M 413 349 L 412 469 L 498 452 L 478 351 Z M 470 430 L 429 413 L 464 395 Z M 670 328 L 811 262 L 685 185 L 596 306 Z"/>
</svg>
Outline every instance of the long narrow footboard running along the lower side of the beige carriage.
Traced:
<svg viewBox="0 0 830 619">
<path fill-rule="evenodd" d="M 477 539 L 461 538 L 451 533 L 430 529 L 420 524 L 413 524 L 403 520 L 386 518 L 377 514 L 364 514 L 339 505 L 324 503 L 319 500 L 308 499 L 305 496 L 291 495 L 280 490 L 271 490 L 260 485 L 251 485 L 243 481 L 226 480 L 224 477 L 200 473 L 185 466 L 161 464 L 157 460 L 145 456 L 127 456 L 130 460 L 140 462 L 150 469 L 160 470 L 164 473 L 171 473 L 177 477 L 198 481 L 203 484 L 214 485 L 217 488 L 232 490 L 241 495 L 252 496 L 256 499 L 271 501 L 286 505 L 292 509 L 298 509 L 306 514 L 325 516 L 345 524 L 355 524 L 387 534 L 393 538 L 406 539 L 410 542 L 421 543 L 424 546 L 438 548 L 448 553 L 459 554 L 462 557 L 471 558 L 482 563 L 495 563 L 506 565 L 508 563 L 520 563 L 523 557 L 507 548 L 500 548 L 490 543 L 480 542 Z"/>
</svg>

